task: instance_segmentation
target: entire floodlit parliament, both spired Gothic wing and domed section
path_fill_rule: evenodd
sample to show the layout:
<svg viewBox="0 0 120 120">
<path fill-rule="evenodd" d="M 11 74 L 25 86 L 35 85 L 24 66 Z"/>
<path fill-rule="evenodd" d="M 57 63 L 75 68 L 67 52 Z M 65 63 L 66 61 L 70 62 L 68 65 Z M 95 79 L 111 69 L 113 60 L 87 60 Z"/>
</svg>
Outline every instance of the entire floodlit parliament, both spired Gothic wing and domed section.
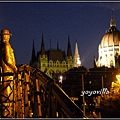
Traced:
<svg viewBox="0 0 120 120">
<path fill-rule="evenodd" d="M 82 66 L 78 43 L 75 43 L 75 52 L 72 55 L 70 37 L 68 36 L 68 44 L 66 45 L 67 53 L 59 49 L 45 49 L 44 37 L 42 33 L 41 48 L 35 55 L 35 47 L 33 41 L 32 57 L 30 65 L 39 68 L 48 76 L 53 78 L 54 74 L 62 74 L 73 67 Z M 98 45 L 98 60 L 94 60 L 95 67 L 120 67 L 120 31 L 116 28 L 114 13 L 110 20 L 110 27 L 102 36 Z"/>
</svg>

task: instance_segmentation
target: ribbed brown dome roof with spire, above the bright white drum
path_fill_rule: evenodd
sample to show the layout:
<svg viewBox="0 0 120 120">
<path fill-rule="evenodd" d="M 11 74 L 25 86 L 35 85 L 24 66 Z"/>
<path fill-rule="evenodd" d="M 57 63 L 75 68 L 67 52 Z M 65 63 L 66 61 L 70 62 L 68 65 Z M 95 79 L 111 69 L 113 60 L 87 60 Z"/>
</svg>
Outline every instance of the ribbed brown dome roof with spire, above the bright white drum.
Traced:
<svg viewBox="0 0 120 120">
<path fill-rule="evenodd" d="M 120 31 L 116 28 L 115 20 L 112 14 L 110 21 L 110 28 L 103 35 L 100 47 L 119 46 Z"/>
</svg>

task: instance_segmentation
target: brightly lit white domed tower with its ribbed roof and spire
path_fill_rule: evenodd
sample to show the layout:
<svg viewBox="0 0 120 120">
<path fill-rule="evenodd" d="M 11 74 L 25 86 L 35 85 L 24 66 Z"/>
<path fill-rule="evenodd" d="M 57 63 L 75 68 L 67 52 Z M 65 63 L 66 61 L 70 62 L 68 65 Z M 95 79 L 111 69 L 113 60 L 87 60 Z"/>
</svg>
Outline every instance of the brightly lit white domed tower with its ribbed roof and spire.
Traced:
<svg viewBox="0 0 120 120">
<path fill-rule="evenodd" d="M 119 67 L 120 66 L 120 31 L 116 28 L 114 15 L 110 21 L 110 28 L 103 35 L 98 48 L 97 67 Z"/>
</svg>

